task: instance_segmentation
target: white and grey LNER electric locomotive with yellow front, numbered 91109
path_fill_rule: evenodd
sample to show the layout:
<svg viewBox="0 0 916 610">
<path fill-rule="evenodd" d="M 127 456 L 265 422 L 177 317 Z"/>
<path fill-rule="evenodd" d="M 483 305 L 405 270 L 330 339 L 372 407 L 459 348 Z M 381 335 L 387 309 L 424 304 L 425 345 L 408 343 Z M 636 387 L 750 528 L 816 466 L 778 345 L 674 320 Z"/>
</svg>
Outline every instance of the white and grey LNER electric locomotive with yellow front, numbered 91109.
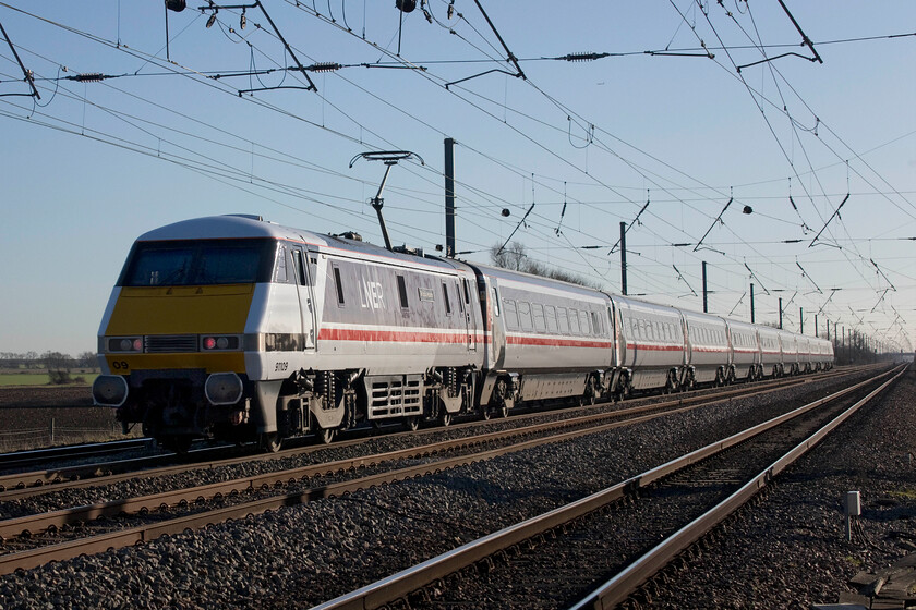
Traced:
<svg viewBox="0 0 916 610">
<path fill-rule="evenodd" d="M 222 216 L 136 240 L 98 332 L 97 404 L 164 446 L 262 442 L 473 404 L 483 364 L 466 265 Z"/>
</svg>

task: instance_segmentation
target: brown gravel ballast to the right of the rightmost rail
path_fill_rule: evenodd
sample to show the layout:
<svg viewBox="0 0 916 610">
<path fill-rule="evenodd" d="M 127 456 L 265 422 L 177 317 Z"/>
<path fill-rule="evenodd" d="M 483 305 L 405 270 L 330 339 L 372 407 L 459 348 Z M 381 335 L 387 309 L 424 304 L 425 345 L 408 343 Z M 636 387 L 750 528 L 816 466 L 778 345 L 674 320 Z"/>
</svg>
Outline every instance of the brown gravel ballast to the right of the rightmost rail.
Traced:
<svg viewBox="0 0 916 610">
<path fill-rule="evenodd" d="M 780 476 L 766 500 L 652 596 L 655 608 L 786 608 L 857 593 L 859 571 L 916 551 L 916 375 L 911 366 L 867 407 Z M 842 499 L 861 492 L 866 539 L 845 539 Z"/>
</svg>

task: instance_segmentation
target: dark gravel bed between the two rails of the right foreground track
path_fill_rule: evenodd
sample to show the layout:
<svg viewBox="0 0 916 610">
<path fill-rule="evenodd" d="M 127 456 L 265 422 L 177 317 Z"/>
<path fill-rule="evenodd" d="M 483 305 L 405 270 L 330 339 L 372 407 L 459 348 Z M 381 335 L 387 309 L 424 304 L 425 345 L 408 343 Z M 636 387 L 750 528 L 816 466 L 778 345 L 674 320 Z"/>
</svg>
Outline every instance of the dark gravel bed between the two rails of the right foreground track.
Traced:
<svg viewBox="0 0 916 610">
<path fill-rule="evenodd" d="M 530 550 L 521 545 L 518 553 L 507 553 L 507 561 L 494 559 L 492 570 L 449 578 L 447 586 L 429 591 L 431 600 L 412 599 L 411 608 L 568 608 L 721 502 L 868 391 L 859 389 L 694 464 L 640 490 L 638 499 L 615 502 L 571 524 L 565 534 L 545 536 Z"/>
</svg>

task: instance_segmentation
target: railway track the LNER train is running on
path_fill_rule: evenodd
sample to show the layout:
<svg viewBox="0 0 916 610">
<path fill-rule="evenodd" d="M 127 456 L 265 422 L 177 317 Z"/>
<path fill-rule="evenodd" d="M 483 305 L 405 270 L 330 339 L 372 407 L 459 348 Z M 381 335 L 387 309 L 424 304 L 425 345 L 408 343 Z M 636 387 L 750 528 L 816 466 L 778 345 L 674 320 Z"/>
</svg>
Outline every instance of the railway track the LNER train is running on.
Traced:
<svg viewBox="0 0 916 610">
<path fill-rule="evenodd" d="M 647 403 L 652 403 L 654 408 L 670 408 L 673 406 L 698 404 L 710 400 L 712 396 L 719 399 L 726 399 L 731 396 L 747 395 L 750 392 L 768 391 L 770 389 L 788 388 L 799 383 L 820 381 L 823 379 L 831 379 L 842 377 L 844 375 L 854 375 L 870 367 L 859 367 L 855 369 L 842 369 L 822 373 L 813 376 L 778 379 L 763 383 L 756 383 L 754 386 L 737 386 L 728 388 L 715 388 L 708 390 L 699 390 L 685 394 L 678 394 L 672 400 L 658 401 L 659 396 L 647 396 L 641 399 L 632 399 L 626 401 L 627 406 L 622 410 L 627 412 L 629 408 L 640 408 Z M 595 405 L 593 408 L 606 408 L 606 404 Z M 513 422 L 525 422 L 532 417 L 541 417 L 545 412 L 538 411 L 533 415 L 529 412 L 526 414 L 513 417 Z M 559 410 L 554 413 L 563 415 L 564 411 Z M 458 424 L 450 427 L 450 430 L 461 430 L 474 428 L 479 423 L 471 422 L 467 424 Z M 433 428 L 413 432 L 418 438 L 424 436 L 436 435 L 443 428 Z M 365 434 L 358 434 L 355 438 L 343 440 L 335 443 L 335 447 L 348 447 L 364 442 Z M 126 442 L 126 441 L 117 441 Z M 112 443 L 98 443 L 99 454 L 105 454 L 105 446 Z M 170 474 L 186 472 L 191 468 L 210 468 L 220 465 L 232 465 L 246 461 L 273 461 L 282 459 L 285 456 L 299 455 L 304 453 L 313 453 L 321 451 L 323 447 L 296 447 L 280 451 L 276 454 L 257 454 L 251 448 L 236 448 L 236 447 L 216 447 L 202 448 L 192 450 L 186 455 L 176 455 L 172 453 L 158 453 L 155 455 L 144 455 L 138 457 L 130 457 L 122 460 L 114 460 L 109 462 L 77 464 L 69 466 L 58 466 L 44 469 L 32 469 L 27 472 L 15 472 L 0 475 L 0 502 L 28 498 L 39 493 L 45 493 L 52 488 L 80 488 L 89 485 L 107 485 L 125 480 L 131 477 L 152 478 L 157 476 L 167 476 Z M 228 456 L 227 456 L 228 454 Z M 56 460 L 64 460 L 68 455 L 59 453 Z M 69 457 L 72 457 L 69 456 Z M 3 465 L 0 464 L 0 469 Z"/>
</svg>

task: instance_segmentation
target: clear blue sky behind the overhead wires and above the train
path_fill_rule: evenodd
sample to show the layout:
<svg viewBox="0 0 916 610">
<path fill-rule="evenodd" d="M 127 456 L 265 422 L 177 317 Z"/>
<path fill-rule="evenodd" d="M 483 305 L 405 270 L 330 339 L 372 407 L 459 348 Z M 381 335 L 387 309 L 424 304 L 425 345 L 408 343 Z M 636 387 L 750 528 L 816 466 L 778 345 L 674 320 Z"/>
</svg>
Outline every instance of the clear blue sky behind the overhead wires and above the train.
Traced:
<svg viewBox="0 0 916 610">
<path fill-rule="evenodd" d="M 301 63 L 346 68 L 311 72 L 317 93 L 240 97 L 306 85 L 207 77 L 292 65 L 258 9 L 244 29 L 239 10 L 210 28 L 205 2 L 169 12 L 169 63 L 160 1 L 0 1 L 41 96 L 10 96 L 29 88 L 0 40 L 0 351 L 95 350 L 132 241 L 178 220 L 260 213 L 381 243 L 366 202 L 384 167 L 348 168 L 366 150 L 425 160 L 393 170 L 385 213 L 395 243 L 431 251 L 445 241 L 447 136 L 466 258 L 486 261 L 534 203 L 514 240 L 617 292 L 608 252 L 648 199 L 627 235 L 630 294 L 700 309 L 706 260 L 713 313 L 749 319 L 754 282 L 758 321 L 776 321 L 782 297 L 786 328 L 803 307 L 806 333 L 820 312 L 821 334 L 830 319 L 913 349 L 916 37 L 887 36 L 916 32 L 916 3 L 787 1 L 823 63 L 740 73 L 763 53 L 813 57 L 779 3 L 481 3 L 526 78 L 469 0 L 450 19 L 433 0 L 432 24 L 405 14 L 400 57 L 393 1 L 264 0 Z M 701 44 L 714 58 L 696 57 Z M 541 59 L 580 52 L 611 56 Z M 86 73 L 119 77 L 67 78 Z"/>
</svg>

